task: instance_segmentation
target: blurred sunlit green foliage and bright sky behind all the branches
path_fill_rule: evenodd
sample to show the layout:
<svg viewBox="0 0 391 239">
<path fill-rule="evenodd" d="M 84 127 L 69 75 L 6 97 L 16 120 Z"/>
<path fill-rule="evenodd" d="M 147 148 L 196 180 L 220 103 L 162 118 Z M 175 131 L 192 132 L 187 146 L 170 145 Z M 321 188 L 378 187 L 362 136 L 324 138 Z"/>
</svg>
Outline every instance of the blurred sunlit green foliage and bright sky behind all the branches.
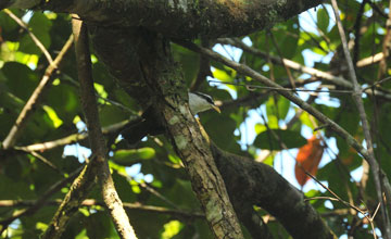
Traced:
<svg viewBox="0 0 391 239">
<path fill-rule="evenodd" d="M 342 0 L 339 4 L 355 63 L 381 53 L 387 39 L 389 2 Z M 68 15 L 21 10 L 12 12 L 28 24 L 28 28 L 53 58 L 71 35 Z M 329 93 L 298 95 L 363 141 L 358 113 L 351 96 L 332 92 L 344 88 L 272 59 L 289 59 L 348 79 L 341 41 L 329 4 L 319 5 L 267 30 L 236 40 L 263 52 L 264 56 L 243 51 L 240 46 L 219 45 L 219 40 L 210 43 L 219 53 L 247 64 L 286 87 L 291 87 L 291 77 L 298 88 L 329 90 Z M 45 75 L 48 62 L 28 34 L 4 12 L 0 12 L 0 140 L 3 140 Z M 173 45 L 173 52 L 190 87 L 197 79 L 201 58 L 176 45 Z M 102 126 L 128 121 L 139 114 L 140 109 L 135 100 L 115 84 L 94 55 L 92 62 Z M 379 74 L 379 62 L 375 60 L 365 66 L 357 66 L 360 84 L 371 86 L 386 78 L 390 74 L 388 65 L 383 74 Z M 294 179 L 293 165 L 298 149 L 307 143 L 306 139 L 316 135 L 321 139 L 325 150 L 317 178 L 345 201 L 374 211 L 377 200 L 371 175 L 365 179 L 362 159 L 344 140 L 327 128 L 315 133 L 314 129 L 321 126 L 315 118 L 302 113 L 297 105 L 275 91 L 262 88 L 252 78 L 220 63 L 211 62 L 211 66 L 213 77 L 207 79 L 232 84 L 204 81 L 198 89 L 213 96 L 222 105 L 222 114 L 204 112 L 199 115 L 218 147 L 274 166 L 307 197 L 331 197 L 312 180 L 303 188 Z M 85 133 L 73 50 L 65 55 L 60 70 L 43 99 L 36 105 L 16 146 L 31 146 Z M 255 87 L 243 87 L 244 84 Z M 377 88 L 383 95 L 391 96 L 391 83 L 386 81 Z M 375 154 L 390 177 L 390 98 L 363 95 L 363 100 L 375 139 Z M 134 203 L 128 210 L 131 211 L 129 216 L 139 238 L 212 238 L 205 222 L 195 214 L 201 212 L 200 205 L 180 159 L 164 137 L 148 137 L 136 146 L 128 146 L 118 138 L 111 147 L 110 155 L 116 189 L 124 202 Z M 39 199 L 56 181 L 77 171 L 88 156 L 88 143 L 83 140 L 68 141 L 54 149 L 37 152 L 1 151 L 0 202 Z M 70 183 L 50 194 L 50 200 L 63 199 L 68 186 Z M 97 190 L 90 198 L 100 201 L 101 197 Z M 342 203 L 325 199 L 312 200 L 311 203 L 339 237 L 346 238 L 350 235 L 354 238 L 373 238 L 370 226 L 363 221 L 363 216 Z M 155 212 L 143 205 L 181 211 L 184 214 Z M 24 207 L 1 206 L 1 223 Z M 13 221 L 2 236 L 38 238 L 55 210 L 56 204 L 52 203 L 20 217 Z M 257 211 L 260 215 L 269 218 L 267 212 L 262 209 Z M 277 238 L 289 238 L 278 222 L 270 218 L 268 225 Z M 63 236 L 79 239 L 116 237 L 112 222 L 99 204 L 80 207 Z"/>
</svg>

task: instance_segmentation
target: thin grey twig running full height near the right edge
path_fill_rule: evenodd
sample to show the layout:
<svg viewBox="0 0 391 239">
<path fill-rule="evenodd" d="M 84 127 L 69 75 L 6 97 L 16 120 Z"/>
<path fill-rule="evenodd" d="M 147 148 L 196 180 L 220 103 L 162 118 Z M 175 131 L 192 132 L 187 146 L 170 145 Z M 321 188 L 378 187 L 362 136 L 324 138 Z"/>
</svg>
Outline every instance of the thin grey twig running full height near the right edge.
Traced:
<svg viewBox="0 0 391 239">
<path fill-rule="evenodd" d="M 371 135 L 370 135 L 370 128 L 369 128 L 368 120 L 367 120 L 367 116 L 365 113 L 364 103 L 363 103 L 362 97 L 361 97 L 363 91 L 362 91 L 361 86 L 358 85 L 357 77 L 356 77 L 356 74 L 354 71 L 353 61 L 352 61 L 352 58 L 349 52 L 348 41 L 346 41 L 345 33 L 343 30 L 341 18 L 339 16 L 337 1 L 331 0 L 331 5 L 332 5 L 332 10 L 336 15 L 336 22 L 337 22 L 338 30 L 339 30 L 341 41 L 342 41 L 343 52 L 344 52 L 344 56 L 345 56 L 348 67 L 349 67 L 349 75 L 353 83 L 353 90 L 354 90 L 353 99 L 356 103 L 360 118 L 361 118 L 362 126 L 363 126 L 363 131 L 364 131 L 364 136 L 365 136 L 365 141 L 366 141 L 366 148 L 367 148 L 367 152 L 368 152 L 368 163 L 369 163 L 370 169 L 373 172 L 377 198 L 381 203 L 380 212 L 381 212 L 382 224 L 383 224 L 383 228 L 384 228 L 384 231 L 383 231 L 384 238 L 390 239 L 391 238 L 391 224 L 390 224 L 388 211 L 386 207 L 386 203 L 382 199 L 382 187 L 381 187 L 382 184 L 381 184 L 380 177 L 379 177 L 380 167 L 375 158 L 373 139 L 371 139 Z M 388 180 L 388 179 L 386 179 L 386 180 Z M 391 199 L 387 199 L 387 200 L 391 200 Z"/>
</svg>

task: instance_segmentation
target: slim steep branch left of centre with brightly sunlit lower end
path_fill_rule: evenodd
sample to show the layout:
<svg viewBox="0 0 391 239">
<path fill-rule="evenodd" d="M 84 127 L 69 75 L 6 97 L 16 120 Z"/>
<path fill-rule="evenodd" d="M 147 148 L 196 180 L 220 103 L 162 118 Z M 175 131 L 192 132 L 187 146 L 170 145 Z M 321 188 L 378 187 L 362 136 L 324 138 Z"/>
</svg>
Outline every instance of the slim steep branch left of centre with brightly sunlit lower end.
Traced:
<svg viewBox="0 0 391 239">
<path fill-rule="evenodd" d="M 102 187 L 102 197 L 115 229 L 121 238 L 137 238 L 130 226 L 129 218 L 115 190 L 114 181 L 108 164 L 108 150 L 99 123 L 98 105 L 93 89 L 91 56 L 88 46 L 87 26 L 77 16 L 72 21 L 75 35 L 75 50 L 78 77 L 80 80 L 81 104 L 86 116 L 89 141 L 92 154 L 96 156 L 92 164 L 97 165 L 98 179 Z"/>
</svg>

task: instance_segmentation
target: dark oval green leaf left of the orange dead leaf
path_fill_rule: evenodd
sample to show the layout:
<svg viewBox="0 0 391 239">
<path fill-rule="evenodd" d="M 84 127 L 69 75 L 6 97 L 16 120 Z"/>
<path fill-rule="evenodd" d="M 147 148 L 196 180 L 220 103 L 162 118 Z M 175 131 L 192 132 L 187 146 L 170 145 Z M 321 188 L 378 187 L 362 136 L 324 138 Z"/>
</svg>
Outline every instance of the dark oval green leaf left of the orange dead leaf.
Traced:
<svg viewBox="0 0 391 239">
<path fill-rule="evenodd" d="M 300 148 L 307 142 L 307 140 L 297 131 L 269 129 L 256 136 L 254 146 L 258 149 L 282 150 L 283 148 L 275 135 L 280 138 L 280 141 L 283 142 L 288 149 Z"/>
</svg>

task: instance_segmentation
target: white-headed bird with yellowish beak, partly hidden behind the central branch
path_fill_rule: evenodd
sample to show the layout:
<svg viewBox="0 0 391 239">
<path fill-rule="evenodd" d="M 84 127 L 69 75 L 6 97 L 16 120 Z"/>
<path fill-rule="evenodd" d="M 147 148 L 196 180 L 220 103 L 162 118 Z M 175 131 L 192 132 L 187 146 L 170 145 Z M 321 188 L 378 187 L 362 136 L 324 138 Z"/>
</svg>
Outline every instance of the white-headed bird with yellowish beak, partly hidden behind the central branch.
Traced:
<svg viewBox="0 0 391 239">
<path fill-rule="evenodd" d="M 219 108 L 213 101 L 213 98 L 209 95 L 201 92 L 190 92 L 189 96 L 189 108 L 192 115 L 197 115 L 198 113 L 215 110 L 220 113 Z M 141 122 L 136 123 L 135 125 L 125 128 L 121 135 L 126 139 L 129 144 L 135 144 L 140 141 L 147 135 L 160 135 L 164 131 L 162 125 L 156 124 L 154 121 L 154 116 L 152 115 L 153 111 L 147 109 L 142 114 L 143 120 Z"/>
</svg>

